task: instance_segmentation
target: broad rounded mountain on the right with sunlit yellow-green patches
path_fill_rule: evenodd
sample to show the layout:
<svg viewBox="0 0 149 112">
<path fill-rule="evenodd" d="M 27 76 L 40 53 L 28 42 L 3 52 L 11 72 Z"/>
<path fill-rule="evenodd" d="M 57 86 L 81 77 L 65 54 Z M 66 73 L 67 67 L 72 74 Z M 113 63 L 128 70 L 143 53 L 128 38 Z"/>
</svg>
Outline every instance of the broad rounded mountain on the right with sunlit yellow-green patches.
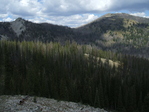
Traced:
<svg viewBox="0 0 149 112">
<path fill-rule="evenodd" d="M 107 14 L 74 30 L 104 50 L 149 57 L 148 18 Z"/>
</svg>

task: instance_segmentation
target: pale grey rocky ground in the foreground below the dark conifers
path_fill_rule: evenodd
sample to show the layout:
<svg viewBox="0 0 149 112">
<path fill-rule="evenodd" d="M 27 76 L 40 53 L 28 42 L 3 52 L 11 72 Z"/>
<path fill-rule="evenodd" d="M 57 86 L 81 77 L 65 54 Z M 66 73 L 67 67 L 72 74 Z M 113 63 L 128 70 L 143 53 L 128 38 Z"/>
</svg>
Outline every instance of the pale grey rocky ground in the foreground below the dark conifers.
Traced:
<svg viewBox="0 0 149 112">
<path fill-rule="evenodd" d="M 107 112 L 80 103 L 57 101 L 54 99 L 34 97 L 20 105 L 19 102 L 25 96 L 0 96 L 0 112 Z"/>
</svg>

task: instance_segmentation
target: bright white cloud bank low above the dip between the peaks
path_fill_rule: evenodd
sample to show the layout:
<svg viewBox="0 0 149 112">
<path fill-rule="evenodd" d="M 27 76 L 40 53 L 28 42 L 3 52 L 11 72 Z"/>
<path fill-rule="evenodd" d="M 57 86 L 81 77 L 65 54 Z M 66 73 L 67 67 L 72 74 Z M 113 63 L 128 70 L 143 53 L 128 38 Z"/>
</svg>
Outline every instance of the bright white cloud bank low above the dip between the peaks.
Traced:
<svg viewBox="0 0 149 112">
<path fill-rule="evenodd" d="M 89 23 L 95 19 L 97 19 L 98 16 L 95 16 L 94 14 L 82 14 L 82 15 L 71 15 L 71 16 L 49 16 L 48 18 L 34 18 L 34 19 L 29 19 L 30 21 L 34 21 L 36 23 L 42 23 L 42 22 L 48 22 L 48 23 L 53 23 L 53 24 L 58 24 L 58 25 L 68 25 L 70 27 L 78 27 Z"/>
</svg>

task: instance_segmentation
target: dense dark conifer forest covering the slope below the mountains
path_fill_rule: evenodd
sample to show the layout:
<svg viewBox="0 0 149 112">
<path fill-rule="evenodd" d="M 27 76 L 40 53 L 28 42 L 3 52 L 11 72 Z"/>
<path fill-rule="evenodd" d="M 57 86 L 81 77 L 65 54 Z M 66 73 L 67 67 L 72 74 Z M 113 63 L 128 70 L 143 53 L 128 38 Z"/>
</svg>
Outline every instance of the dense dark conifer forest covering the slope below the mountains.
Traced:
<svg viewBox="0 0 149 112">
<path fill-rule="evenodd" d="M 119 61 L 119 67 L 101 58 L 107 63 L 109 59 Z M 0 94 L 44 96 L 118 112 L 148 112 L 148 67 L 147 59 L 76 43 L 0 41 Z"/>
</svg>

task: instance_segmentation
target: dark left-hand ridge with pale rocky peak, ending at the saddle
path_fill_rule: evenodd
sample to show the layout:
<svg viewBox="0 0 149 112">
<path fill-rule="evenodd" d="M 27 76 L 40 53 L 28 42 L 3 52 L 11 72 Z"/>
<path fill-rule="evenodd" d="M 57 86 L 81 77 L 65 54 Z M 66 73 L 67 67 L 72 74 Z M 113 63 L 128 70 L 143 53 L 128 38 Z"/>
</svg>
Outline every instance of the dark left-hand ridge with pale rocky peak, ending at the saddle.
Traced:
<svg viewBox="0 0 149 112">
<path fill-rule="evenodd" d="M 9 40 L 61 42 L 71 40 L 71 34 L 72 30 L 67 26 L 58 26 L 48 23 L 37 24 L 22 18 L 18 18 L 10 23 L 0 23 L 0 38 L 5 36 Z"/>
</svg>

